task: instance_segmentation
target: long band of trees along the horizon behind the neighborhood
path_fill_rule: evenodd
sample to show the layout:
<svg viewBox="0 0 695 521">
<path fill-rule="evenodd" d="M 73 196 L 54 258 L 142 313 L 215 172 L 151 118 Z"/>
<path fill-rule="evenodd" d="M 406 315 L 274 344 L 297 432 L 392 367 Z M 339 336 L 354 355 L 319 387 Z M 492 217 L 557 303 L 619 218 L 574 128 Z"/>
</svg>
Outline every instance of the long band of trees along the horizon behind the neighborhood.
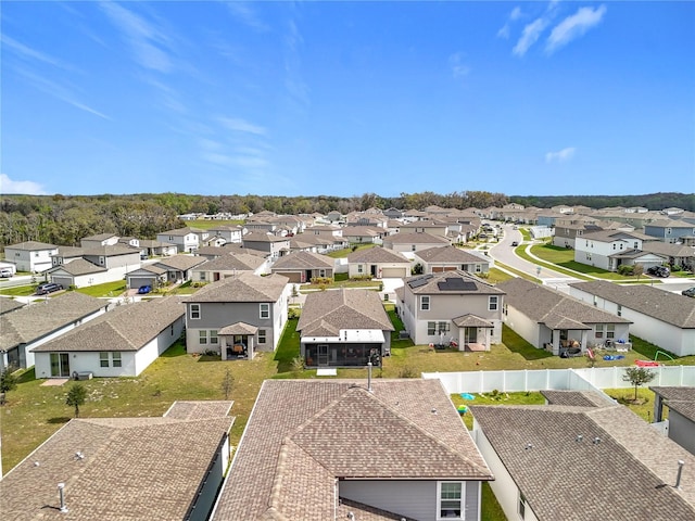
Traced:
<svg viewBox="0 0 695 521">
<path fill-rule="evenodd" d="M 508 196 L 486 191 L 462 191 L 439 194 L 430 191 L 401 193 L 384 198 L 364 193 L 350 198 L 334 195 L 194 195 L 185 193 L 142 193 L 128 195 L 2 195 L 0 196 L 0 244 L 38 241 L 61 245 L 79 245 L 84 237 L 114 233 L 119 237 L 154 239 L 156 233 L 186 226 L 178 216 L 190 213 L 214 215 L 257 214 L 270 211 L 281 215 L 348 214 L 371 207 L 387 209 L 424 209 L 502 207 L 508 203 L 549 208 L 559 204 L 593 208 L 645 206 L 661 209 L 678 206 L 695 211 L 693 194 L 655 193 L 649 195 L 569 195 Z"/>
</svg>

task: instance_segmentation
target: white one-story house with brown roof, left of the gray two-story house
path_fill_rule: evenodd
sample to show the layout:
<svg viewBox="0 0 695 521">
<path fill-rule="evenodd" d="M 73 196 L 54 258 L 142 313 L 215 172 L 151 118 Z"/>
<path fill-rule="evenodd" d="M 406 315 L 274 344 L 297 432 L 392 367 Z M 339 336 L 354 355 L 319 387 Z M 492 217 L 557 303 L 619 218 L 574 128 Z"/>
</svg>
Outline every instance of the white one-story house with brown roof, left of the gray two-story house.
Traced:
<svg viewBox="0 0 695 521">
<path fill-rule="evenodd" d="M 184 332 L 176 296 L 116 306 L 31 352 L 36 378 L 137 377 Z"/>
</svg>

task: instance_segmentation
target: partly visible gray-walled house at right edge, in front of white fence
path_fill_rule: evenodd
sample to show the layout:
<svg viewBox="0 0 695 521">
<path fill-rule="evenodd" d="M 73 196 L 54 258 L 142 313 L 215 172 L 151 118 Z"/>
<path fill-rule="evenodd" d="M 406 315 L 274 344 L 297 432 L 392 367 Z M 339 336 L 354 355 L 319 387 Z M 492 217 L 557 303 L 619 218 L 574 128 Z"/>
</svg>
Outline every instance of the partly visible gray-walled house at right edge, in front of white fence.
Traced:
<svg viewBox="0 0 695 521">
<path fill-rule="evenodd" d="M 654 385 L 654 421 L 664 419 L 664 406 L 669 409 L 668 436 L 695 455 L 695 387 Z"/>
</svg>

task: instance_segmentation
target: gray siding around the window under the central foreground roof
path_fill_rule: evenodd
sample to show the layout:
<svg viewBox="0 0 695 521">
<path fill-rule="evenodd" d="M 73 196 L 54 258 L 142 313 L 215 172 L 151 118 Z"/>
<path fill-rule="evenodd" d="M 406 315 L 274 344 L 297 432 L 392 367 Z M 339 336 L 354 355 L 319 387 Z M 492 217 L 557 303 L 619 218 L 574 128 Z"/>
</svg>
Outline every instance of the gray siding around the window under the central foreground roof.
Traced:
<svg viewBox="0 0 695 521">
<path fill-rule="evenodd" d="M 480 482 L 465 482 L 466 521 L 479 520 Z M 418 521 L 437 520 L 437 481 L 341 481 L 339 495 Z"/>
</svg>

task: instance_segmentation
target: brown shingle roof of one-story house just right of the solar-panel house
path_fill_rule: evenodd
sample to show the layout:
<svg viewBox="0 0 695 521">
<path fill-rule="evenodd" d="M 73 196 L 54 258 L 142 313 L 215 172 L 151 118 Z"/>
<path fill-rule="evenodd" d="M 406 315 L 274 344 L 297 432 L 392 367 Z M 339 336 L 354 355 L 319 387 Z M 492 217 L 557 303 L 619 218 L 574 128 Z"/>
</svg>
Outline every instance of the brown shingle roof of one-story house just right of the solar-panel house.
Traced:
<svg viewBox="0 0 695 521">
<path fill-rule="evenodd" d="M 549 328 L 590 329 L 587 323 L 632 323 L 621 317 L 591 306 L 579 298 L 535 284 L 520 277 L 500 282 L 497 288 L 507 293 L 509 306 Z M 569 320 L 569 321 L 566 321 Z"/>
</svg>

